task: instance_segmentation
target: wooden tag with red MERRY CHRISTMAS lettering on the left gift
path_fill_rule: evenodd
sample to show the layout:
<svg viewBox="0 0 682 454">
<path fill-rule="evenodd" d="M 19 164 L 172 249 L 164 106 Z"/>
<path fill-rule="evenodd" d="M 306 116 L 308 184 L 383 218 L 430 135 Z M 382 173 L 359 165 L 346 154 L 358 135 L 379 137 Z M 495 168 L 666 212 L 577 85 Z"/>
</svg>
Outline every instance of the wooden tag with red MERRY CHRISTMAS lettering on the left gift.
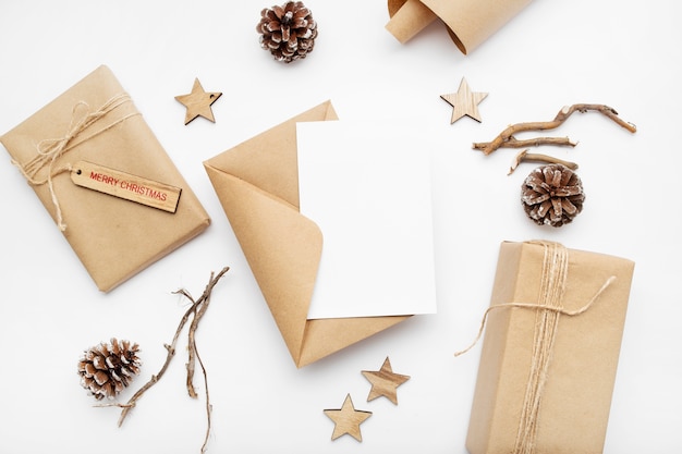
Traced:
<svg viewBox="0 0 682 454">
<path fill-rule="evenodd" d="M 172 213 L 178 209 L 178 201 L 182 192 L 180 187 L 86 161 L 80 161 L 73 165 L 71 180 L 77 186 Z"/>
</svg>

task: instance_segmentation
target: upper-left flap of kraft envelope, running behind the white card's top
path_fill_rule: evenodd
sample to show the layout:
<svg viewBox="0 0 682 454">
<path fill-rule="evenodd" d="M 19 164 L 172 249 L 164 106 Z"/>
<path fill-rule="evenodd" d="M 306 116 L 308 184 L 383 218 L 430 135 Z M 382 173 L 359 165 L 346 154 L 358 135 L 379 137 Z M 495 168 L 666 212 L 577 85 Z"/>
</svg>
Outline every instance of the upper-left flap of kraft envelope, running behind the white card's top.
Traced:
<svg viewBox="0 0 682 454">
<path fill-rule="evenodd" d="M 299 207 L 296 123 L 325 120 L 338 120 L 329 100 L 241 143 L 206 163 Z"/>
</svg>

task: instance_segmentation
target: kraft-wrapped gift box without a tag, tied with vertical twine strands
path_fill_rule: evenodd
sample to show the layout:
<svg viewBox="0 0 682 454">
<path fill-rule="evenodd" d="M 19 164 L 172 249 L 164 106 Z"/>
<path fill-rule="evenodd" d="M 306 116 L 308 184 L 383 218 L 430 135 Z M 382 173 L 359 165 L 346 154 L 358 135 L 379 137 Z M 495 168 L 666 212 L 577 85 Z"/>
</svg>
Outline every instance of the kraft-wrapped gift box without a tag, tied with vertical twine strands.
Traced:
<svg viewBox="0 0 682 454">
<path fill-rule="evenodd" d="M 602 452 L 633 270 L 557 243 L 502 243 L 470 453 Z"/>
</svg>

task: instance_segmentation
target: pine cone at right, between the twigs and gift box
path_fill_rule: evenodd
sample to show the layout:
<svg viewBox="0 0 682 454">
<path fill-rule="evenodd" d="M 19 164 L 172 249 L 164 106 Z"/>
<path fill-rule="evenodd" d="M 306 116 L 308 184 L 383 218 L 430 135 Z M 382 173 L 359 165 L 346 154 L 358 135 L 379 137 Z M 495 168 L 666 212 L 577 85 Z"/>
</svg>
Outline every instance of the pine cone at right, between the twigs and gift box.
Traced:
<svg viewBox="0 0 682 454">
<path fill-rule="evenodd" d="M 580 176 L 562 164 L 535 169 L 521 186 L 521 203 L 539 225 L 561 226 L 583 210 L 585 194 Z"/>
</svg>

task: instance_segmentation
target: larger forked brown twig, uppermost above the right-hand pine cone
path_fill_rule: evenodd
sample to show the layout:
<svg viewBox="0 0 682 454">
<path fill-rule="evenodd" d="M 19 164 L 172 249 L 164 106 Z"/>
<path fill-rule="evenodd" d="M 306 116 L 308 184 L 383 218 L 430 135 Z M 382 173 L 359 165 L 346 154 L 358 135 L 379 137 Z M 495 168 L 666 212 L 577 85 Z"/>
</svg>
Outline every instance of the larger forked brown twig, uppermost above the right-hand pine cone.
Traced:
<svg viewBox="0 0 682 454">
<path fill-rule="evenodd" d="M 548 122 L 528 122 L 528 123 L 516 123 L 507 127 L 502 131 L 497 137 L 492 139 L 492 142 L 480 142 L 474 143 L 473 148 L 476 150 L 480 150 L 484 155 L 490 155 L 492 151 L 498 148 L 507 147 L 507 148 L 522 148 L 532 145 L 563 145 L 574 147 L 576 144 L 569 140 L 567 137 L 536 137 L 533 139 L 526 140 L 517 140 L 514 137 L 514 134 L 522 133 L 526 131 L 547 131 L 559 127 L 573 112 L 587 112 L 587 111 L 596 111 L 605 116 L 611 119 L 617 124 L 621 125 L 625 130 L 634 133 L 637 131 L 636 126 L 632 123 L 628 123 L 623 121 L 620 116 L 618 116 L 618 112 L 605 105 L 573 105 L 564 107 L 557 113 L 557 116 L 552 121 Z"/>
</svg>

